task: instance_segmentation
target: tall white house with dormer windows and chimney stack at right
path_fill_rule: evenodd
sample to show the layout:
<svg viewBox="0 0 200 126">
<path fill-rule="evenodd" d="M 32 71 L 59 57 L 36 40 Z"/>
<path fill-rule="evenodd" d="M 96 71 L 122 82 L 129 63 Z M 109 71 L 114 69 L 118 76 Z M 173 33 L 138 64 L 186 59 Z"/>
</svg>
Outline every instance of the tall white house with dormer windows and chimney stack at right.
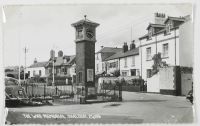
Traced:
<svg viewBox="0 0 200 126">
<path fill-rule="evenodd" d="M 139 38 L 141 75 L 145 80 L 151 76 L 155 54 L 161 53 L 162 61 L 169 66 L 193 64 L 193 27 L 189 16 L 165 18 L 165 14 L 156 13 L 155 17 L 155 24 L 149 24 L 148 33 Z"/>
</svg>

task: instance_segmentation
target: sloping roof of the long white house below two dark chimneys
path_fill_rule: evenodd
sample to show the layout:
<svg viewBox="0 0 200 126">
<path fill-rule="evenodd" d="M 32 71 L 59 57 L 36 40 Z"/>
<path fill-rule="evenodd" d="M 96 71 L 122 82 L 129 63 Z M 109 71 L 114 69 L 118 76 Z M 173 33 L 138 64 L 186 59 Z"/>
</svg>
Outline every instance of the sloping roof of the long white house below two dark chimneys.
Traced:
<svg viewBox="0 0 200 126">
<path fill-rule="evenodd" d="M 133 56 L 133 55 L 138 55 L 138 54 L 139 54 L 139 48 L 128 50 L 125 53 L 123 51 L 119 51 L 119 52 L 115 53 L 114 55 L 106 58 L 105 61 L 123 58 L 123 57 L 128 57 L 128 56 Z"/>
</svg>

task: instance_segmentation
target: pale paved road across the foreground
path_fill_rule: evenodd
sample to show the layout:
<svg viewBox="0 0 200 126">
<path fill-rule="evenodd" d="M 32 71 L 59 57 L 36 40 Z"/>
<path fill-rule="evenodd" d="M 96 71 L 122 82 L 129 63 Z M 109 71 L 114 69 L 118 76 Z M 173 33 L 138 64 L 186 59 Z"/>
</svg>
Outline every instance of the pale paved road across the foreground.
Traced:
<svg viewBox="0 0 200 126">
<path fill-rule="evenodd" d="M 22 114 L 59 113 L 67 119 L 25 119 Z M 99 118 L 68 118 L 99 115 Z M 12 118 L 17 117 L 15 120 Z M 7 120 L 13 123 L 191 123 L 193 105 L 185 97 L 123 92 L 123 102 L 9 108 Z"/>
</svg>

